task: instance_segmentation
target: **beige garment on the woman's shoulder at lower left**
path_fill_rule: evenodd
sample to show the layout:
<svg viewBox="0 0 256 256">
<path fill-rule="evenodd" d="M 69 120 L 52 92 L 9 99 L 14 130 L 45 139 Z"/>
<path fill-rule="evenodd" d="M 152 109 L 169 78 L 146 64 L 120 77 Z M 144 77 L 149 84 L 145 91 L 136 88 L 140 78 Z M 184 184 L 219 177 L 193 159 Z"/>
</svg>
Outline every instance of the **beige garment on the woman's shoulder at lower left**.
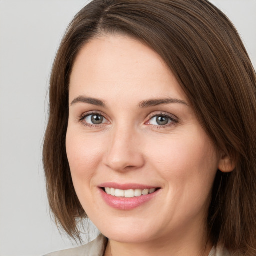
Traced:
<svg viewBox="0 0 256 256">
<path fill-rule="evenodd" d="M 45 256 L 103 256 L 107 238 L 100 234 L 95 240 L 71 249 L 51 252 Z"/>
</svg>

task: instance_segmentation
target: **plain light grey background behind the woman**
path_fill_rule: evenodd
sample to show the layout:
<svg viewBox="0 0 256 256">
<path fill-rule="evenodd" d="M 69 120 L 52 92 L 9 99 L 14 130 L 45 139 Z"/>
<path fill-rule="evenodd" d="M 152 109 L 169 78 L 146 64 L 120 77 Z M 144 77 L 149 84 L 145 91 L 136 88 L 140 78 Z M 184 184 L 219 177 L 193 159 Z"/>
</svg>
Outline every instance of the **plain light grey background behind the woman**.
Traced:
<svg viewBox="0 0 256 256">
<path fill-rule="evenodd" d="M 41 149 L 51 64 L 86 2 L 0 0 L 0 256 L 76 246 L 50 220 Z M 237 27 L 256 66 L 256 0 L 212 2 Z"/>
</svg>

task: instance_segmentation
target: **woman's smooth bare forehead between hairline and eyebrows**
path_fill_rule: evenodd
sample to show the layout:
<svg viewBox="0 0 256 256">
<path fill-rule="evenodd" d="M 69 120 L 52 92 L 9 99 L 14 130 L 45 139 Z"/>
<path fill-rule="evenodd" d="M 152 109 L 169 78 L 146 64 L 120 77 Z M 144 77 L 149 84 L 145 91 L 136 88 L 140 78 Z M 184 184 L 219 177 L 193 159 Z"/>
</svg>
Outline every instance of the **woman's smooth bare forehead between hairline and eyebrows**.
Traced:
<svg viewBox="0 0 256 256">
<path fill-rule="evenodd" d="M 78 53 L 70 76 L 69 98 L 77 94 L 121 97 L 185 95 L 161 57 L 140 41 L 124 35 L 92 39 Z M 170 95 L 171 94 L 171 95 Z"/>
</svg>

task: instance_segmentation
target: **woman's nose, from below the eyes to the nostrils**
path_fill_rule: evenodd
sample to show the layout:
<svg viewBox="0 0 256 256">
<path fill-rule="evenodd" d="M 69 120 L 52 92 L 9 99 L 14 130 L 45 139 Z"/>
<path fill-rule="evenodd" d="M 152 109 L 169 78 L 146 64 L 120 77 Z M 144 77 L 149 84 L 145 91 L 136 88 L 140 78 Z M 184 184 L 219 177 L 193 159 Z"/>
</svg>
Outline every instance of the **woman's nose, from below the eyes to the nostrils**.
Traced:
<svg viewBox="0 0 256 256">
<path fill-rule="evenodd" d="M 109 137 L 104 164 L 115 171 L 134 170 L 144 165 L 141 136 L 134 129 L 116 128 Z"/>
</svg>

